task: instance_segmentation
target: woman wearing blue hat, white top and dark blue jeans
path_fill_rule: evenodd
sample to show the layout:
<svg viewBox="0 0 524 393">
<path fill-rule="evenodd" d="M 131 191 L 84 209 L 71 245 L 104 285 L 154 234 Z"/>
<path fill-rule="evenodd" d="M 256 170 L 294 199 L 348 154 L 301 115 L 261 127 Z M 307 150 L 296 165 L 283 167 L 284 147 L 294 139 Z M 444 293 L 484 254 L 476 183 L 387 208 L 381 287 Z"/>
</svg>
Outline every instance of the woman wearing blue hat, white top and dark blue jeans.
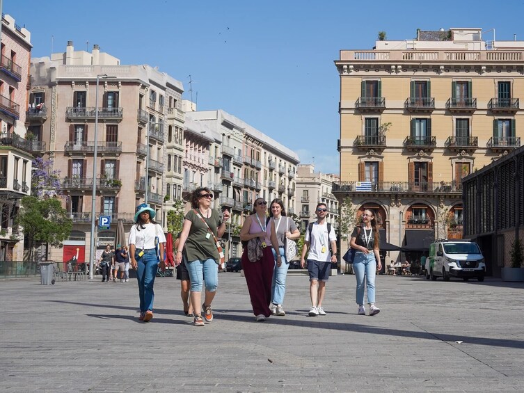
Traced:
<svg viewBox="0 0 524 393">
<path fill-rule="evenodd" d="M 136 270 L 138 295 L 140 296 L 140 319 L 149 322 L 153 317 L 154 278 L 159 263 L 164 263 L 166 236 L 162 227 L 154 221 L 155 212 L 147 203 L 139 204 L 134 215 L 135 225 L 129 232 L 129 255 L 131 266 Z"/>
</svg>

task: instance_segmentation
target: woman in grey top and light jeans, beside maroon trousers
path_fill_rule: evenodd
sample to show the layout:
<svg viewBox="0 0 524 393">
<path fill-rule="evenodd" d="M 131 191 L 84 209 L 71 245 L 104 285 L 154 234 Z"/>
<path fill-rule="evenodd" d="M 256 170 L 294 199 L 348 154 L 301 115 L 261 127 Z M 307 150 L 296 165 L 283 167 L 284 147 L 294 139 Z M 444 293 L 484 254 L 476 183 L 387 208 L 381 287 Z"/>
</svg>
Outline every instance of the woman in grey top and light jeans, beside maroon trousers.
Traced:
<svg viewBox="0 0 524 393">
<path fill-rule="evenodd" d="M 285 295 L 285 279 L 287 276 L 287 269 L 289 268 L 289 261 L 285 256 L 285 241 L 286 239 L 298 239 L 300 237 L 300 231 L 297 229 L 294 221 L 286 216 L 284 202 L 278 198 L 271 201 L 269 217 L 273 220 L 273 227 L 275 227 L 276 239 L 278 241 L 278 250 L 271 247 L 273 258 L 275 259 L 273 281 L 271 282 L 273 315 L 285 316 L 285 311 L 282 305 L 284 303 Z M 277 254 L 280 255 L 280 260 L 282 262 L 280 266 L 278 265 L 276 258 Z"/>
</svg>

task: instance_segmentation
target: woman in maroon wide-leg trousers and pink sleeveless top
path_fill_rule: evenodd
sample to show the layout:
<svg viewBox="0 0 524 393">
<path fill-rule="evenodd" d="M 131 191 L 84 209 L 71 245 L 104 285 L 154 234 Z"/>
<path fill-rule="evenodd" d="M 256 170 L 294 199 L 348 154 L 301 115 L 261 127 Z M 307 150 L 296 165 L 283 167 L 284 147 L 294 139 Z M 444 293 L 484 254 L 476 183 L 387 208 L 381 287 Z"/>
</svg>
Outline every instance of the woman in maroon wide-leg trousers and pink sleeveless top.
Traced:
<svg viewBox="0 0 524 393">
<path fill-rule="evenodd" d="M 248 248 L 244 247 L 242 253 L 242 268 L 248 284 L 249 297 L 253 306 L 253 314 L 257 322 L 265 321 L 271 315 L 269 303 L 271 303 L 271 282 L 273 280 L 273 269 L 275 268 L 274 250 L 278 250 L 273 220 L 267 220 L 267 201 L 257 198 L 253 207 L 253 214 L 248 216 L 240 230 L 240 240 L 249 241 L 259 238 L 262 241 L 262 258 L 255 262 L 248 259 Z M 280 255 L 277 254 L 277 264 L 282 263 Z"/>
</svg>

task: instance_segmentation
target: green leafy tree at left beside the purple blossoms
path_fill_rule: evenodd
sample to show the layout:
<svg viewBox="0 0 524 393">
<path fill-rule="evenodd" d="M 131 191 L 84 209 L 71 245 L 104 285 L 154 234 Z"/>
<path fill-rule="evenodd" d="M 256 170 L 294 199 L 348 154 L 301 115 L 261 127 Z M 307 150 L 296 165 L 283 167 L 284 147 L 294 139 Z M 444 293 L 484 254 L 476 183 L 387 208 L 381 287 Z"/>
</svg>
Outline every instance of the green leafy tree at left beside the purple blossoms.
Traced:
<svg viewBox="0 0 524 393">
<path fill-rule="evenodd" d="M 58 246 L 68 239 L 72 226 L 72 220 L 68 218 L 68 212 L 63 209 L 59 199 L 25 196 L 20 201 L 13 234 L 16 232 L 19 235 L 23 232 L 26 236 L 29 244 L 28 257 L 31 261 L 35 246 L 42 243 Z"/>
</svg>

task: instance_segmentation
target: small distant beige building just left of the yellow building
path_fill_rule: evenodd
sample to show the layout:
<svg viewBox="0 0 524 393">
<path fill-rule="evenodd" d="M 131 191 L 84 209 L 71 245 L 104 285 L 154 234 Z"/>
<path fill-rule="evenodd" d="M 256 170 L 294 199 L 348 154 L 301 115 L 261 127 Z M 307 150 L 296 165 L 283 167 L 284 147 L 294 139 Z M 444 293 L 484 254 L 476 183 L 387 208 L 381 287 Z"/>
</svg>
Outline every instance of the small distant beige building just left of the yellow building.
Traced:
<svg viewBox="0 0 524 393">
<path fill-rule="evenodd" d="M 317 220 L 315 208 L 320 202 L 328 208 L 326 221 L 338 229 L 339 203 L 333 194 L 333 183 L 338 182 L 338 175 L 315 172 L 315 165 L 311 163 L 296 166 L 296 204 L 302 232 Z"/>
</svg>

